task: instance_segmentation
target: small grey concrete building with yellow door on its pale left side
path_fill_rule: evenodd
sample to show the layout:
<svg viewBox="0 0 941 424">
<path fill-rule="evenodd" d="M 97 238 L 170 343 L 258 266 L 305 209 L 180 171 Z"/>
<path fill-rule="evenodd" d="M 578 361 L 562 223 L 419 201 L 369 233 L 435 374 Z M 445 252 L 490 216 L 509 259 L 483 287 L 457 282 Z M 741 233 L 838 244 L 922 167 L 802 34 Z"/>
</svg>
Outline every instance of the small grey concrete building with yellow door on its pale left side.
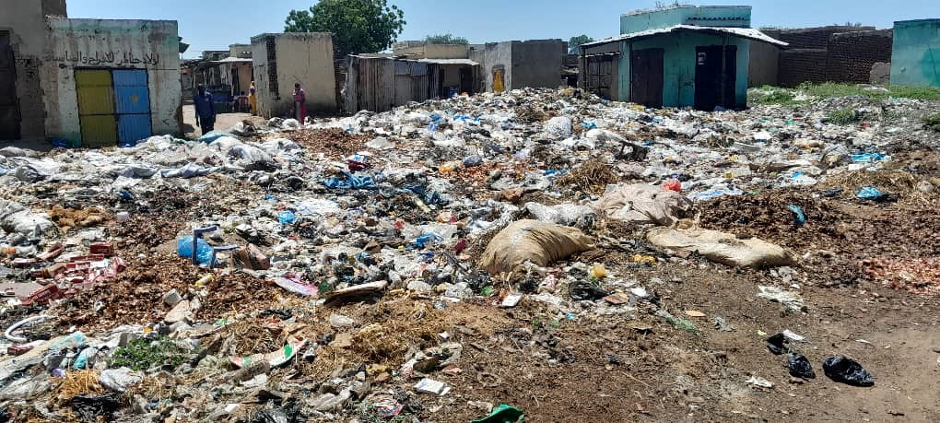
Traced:
<svg viewBox="0 0 941 424">
<path fill-rule="evenodd" d="M 482 52 L 470 55 L 482 57 L 482 91 L 500 93 L 564 85 L 562 65 L 567 53 L 568 45 L 562 40 L 528 40 L 487 43 Z"/>
</svg>

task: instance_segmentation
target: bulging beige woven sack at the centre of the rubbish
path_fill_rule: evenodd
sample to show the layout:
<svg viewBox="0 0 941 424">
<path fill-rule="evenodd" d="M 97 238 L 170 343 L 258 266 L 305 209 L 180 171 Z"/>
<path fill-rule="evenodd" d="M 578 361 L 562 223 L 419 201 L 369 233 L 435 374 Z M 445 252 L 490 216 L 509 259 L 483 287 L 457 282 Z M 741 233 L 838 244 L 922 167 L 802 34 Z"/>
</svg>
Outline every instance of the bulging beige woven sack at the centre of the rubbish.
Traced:
<svg viewBox="0 0 941 424">
<path fill-rule="evenodd" d="M 546 266 L 592 248 L 594 240 L 581 230 L 524 219 L 500 231 L 480 259 L 490 275 L 518 270 L 525 262 Z"/>
</svg>

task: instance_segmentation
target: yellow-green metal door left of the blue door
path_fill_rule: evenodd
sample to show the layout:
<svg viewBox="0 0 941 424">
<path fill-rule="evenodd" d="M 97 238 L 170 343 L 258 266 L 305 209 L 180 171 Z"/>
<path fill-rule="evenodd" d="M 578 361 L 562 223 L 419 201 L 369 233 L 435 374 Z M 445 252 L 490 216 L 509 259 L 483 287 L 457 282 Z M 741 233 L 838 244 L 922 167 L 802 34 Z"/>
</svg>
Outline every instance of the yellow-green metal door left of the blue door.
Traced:
<svg viewBox="0 0 941 424">
<path fill-rule="evenodd" d="M 114 112 L 114 86 L 111 72 L 76 70 L 75 89 L 78 92 L 82 146 L 116 146 L 118 126 Z"/>
</svg>

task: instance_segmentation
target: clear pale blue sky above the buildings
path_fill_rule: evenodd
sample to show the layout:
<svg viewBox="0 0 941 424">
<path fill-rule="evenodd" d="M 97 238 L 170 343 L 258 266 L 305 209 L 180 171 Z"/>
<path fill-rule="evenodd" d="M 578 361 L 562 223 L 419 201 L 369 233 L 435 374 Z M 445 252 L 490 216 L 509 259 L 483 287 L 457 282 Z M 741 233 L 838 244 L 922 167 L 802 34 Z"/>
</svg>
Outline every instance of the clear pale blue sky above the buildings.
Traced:
<svg viewBox="0 0 941 424">
<path fill-rule="evenodd" d="M 37 0 L 38 1 L 38 0 Z M 74 18 L 171 19 L 191 44 L 185 57 L 281 32 L 291 9 L 314 0 L 68 0 Z M 452 33 L 472 43 L 617 35 L 621 13 L 650 8 L 654 0 L 390 0 L 405 11 L 399 40 Z M 672 3 L 664 0 L 663 3 Z M 937 18 L 938 0 L 716 0 L 694 4 L 750 4 L 752 26 L 806 27 L 861 22 L 890 28 L 893 21 Z"/>
</svg>

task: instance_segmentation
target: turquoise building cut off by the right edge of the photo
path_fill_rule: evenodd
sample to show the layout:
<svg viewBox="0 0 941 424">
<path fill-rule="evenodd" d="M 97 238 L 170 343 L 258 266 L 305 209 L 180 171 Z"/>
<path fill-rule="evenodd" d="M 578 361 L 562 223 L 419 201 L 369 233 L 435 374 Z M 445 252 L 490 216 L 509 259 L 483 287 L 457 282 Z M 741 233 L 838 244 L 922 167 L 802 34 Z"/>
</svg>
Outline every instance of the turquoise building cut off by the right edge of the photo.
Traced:
<svg viewBox="0 0 941 424">
<path fill-rule="evenodd" d="M 938 87 L 941 20 L 918 19 L 895 23 L 892 39 L 893 85 Z"/>
</svg>

